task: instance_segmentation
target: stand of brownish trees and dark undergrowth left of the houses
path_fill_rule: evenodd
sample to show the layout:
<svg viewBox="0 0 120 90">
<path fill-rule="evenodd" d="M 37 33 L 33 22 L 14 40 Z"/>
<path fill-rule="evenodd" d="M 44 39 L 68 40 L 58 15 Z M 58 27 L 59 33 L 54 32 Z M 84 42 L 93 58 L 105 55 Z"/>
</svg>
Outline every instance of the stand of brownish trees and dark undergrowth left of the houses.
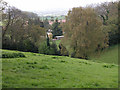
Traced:
<svg viewBox="0 0 120 90">
<path fill-rule="evenodd" d="M 43 22 L 37 14 L 23 12 L 2 4 L 2 48 L 38 52 L 38 47 L 46 38 Z"/>
</svg>

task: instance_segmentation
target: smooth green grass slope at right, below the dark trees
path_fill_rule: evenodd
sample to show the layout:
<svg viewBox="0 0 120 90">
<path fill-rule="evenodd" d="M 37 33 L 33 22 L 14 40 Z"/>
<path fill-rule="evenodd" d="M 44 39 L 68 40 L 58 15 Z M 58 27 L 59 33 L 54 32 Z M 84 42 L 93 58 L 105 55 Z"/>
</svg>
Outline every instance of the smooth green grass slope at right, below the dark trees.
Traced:
<svg viewBox="0 0 120 90">
<path fill-rule="evenodd" d="M 118 45 L 109 47 L 94 61 L 118 64 Z"/>
</svg>

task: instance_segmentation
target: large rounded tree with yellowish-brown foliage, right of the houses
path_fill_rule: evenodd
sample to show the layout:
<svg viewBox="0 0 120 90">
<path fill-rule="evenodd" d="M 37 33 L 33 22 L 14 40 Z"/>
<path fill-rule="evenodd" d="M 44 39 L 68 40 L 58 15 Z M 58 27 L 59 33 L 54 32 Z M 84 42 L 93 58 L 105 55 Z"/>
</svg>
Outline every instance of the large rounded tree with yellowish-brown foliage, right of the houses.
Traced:
<svg viewBox="0 0 120 90">
<path fill-rule="evenodd" d="M 102 22 L 90 7 L 69 11 L 63 30 L 65 37 L 62 43 L 72 57 L 88 59 L 108 45 Z"/>
</svg>

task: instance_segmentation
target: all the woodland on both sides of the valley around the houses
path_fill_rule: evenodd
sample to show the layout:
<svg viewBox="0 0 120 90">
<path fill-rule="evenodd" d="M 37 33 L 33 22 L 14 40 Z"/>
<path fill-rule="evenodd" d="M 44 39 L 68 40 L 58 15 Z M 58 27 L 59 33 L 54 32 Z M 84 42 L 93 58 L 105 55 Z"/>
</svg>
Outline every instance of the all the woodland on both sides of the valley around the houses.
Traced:
<svg viewBox="0 0 120 90">
<path fill-rule="evenodd" d="M 0 4 L 3 49 L 90 59 L 118 44 L 120 38 L 119 2 L 73 8 L 66 16 L 66 23 L 58 23 L 56 19 L 52 26 L 35 13 L 11 7 L 3 0 Z M 53 30 L 53 37 L 65 32 L 59 50 L 46 35 L 49 28 Z"/>
</svg>

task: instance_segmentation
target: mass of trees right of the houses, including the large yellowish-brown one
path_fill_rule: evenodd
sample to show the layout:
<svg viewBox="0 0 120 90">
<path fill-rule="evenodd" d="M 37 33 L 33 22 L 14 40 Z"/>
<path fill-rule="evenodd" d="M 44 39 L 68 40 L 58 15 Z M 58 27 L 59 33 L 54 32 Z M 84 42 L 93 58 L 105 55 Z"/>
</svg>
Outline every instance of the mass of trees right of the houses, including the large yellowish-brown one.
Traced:
<svg viewBox="0 0 120 90">
<path fill-rule="evenodd" d="M 63 25 L 65 37 L 61 44 L 71 57 L 90 59 L 104 49 L 118 44 L 119 2 L 107 2 L 95 7 L 77 7 L 68 12 Z"/>
</svg>

